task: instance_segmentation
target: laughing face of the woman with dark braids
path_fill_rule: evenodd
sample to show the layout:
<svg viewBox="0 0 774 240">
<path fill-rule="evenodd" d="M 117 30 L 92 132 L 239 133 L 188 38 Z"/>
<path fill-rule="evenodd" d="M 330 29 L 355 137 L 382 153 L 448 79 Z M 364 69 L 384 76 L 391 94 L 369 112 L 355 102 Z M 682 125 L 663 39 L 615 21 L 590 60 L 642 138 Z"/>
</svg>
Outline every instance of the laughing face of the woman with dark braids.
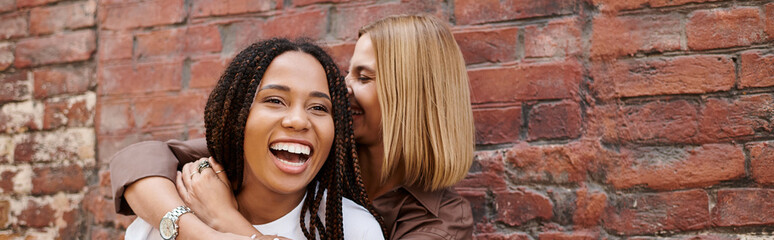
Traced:
<svg viewBox="0 0 774 240">
<path fill-rule="evenodd" d="M 245 187 L 303 191 L 331 149 L 332 110 L 317 59 L 298 51 L 277 56 L 263 75 L 245 126 Z"/>
</svg>

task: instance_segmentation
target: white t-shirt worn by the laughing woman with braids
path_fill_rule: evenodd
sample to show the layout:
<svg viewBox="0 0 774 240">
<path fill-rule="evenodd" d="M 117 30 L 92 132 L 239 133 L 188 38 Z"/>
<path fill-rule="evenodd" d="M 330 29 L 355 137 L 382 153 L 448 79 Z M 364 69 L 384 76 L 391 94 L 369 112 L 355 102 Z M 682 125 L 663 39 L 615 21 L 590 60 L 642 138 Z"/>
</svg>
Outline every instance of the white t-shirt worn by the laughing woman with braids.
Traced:
<svg viewBox="0 0 774 240">
<path fill-rule="evenodd" d="M 323 196 L 323 199 L 320 202 L 320 210 L 317 212 L 317 215 L 320 216 L 323 223 L 325 222 L 325 202 L 325 196 Z M 301 200 L 301 202 L 293 208 L 293 210 L 285 214 L 285 216 L 266 224 L 253 225 L 253 227 L 266 235 L 279 235 L 293 240 L 306 239 L 304 232 L 301 231 L 301 223 L 299 221 L 303 204 L 304 200 Z M 308 221 L 308 213 L 306 217 Z M 374 216 L 371 215 L 368 210 L 357 205 L 357 203 L 352 200 L 341 198 L 341 217 L 344 228 L 344 239 L 384 239 L 379 222 L 376 221 Z M 161 239 L 157 225 L 158 224 L 150 225 L 142 219 L 137 218 L 128 228 L 126 228 L 125 239 Z"/>
</svg>

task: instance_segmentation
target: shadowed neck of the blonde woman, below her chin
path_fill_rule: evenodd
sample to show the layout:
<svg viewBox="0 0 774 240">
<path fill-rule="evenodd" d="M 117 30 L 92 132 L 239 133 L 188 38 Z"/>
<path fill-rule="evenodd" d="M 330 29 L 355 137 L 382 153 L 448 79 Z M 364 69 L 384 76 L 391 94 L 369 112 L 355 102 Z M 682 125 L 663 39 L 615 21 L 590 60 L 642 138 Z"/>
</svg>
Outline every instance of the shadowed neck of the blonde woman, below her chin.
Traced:
<svg viewBox="0 0 774 240">
<path fill-rule="evenodd" d="M 360 160 L 361 172 L 363 173 L 361 177 L 366 193 L 371 200 L 399 187 L 403 182 L 403 175 L 398 173 L 390 174 L 385 182 L 381 181 L 384 156 L 384 145 L 381 143 L 357 145 L 357 158 Z"/>
</svg>

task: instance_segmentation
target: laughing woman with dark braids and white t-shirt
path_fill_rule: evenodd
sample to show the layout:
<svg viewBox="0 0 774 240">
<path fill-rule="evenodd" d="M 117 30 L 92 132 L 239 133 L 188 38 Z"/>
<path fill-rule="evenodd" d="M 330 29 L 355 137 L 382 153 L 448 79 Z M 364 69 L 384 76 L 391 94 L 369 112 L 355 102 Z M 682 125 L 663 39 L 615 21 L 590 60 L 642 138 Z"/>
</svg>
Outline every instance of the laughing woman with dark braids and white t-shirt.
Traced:
<svg viewBox="0 0 774 240">
<path fill-rule="evenodd" d="M 292 239 L 383 239 L 381 226 L 362 207 L 369 205 L 356 182 L 359 171 L 345 171 L 358 168 L 346 91 L 334 62 L 312 43 L 275 38 L 240 52 L 204 111 L 213 160 L 182 168 L 177 184 L 188 208 L 181 205 L 170 215 L 206 213 L 212 208 L 207 203 L 224 203 L 231 207 L 219 214 L 245 223 L 229 228 L 240 235 L 258 229 Z M 228 177 L 219 179 L 213 167 Z M 197 196 L 210 201 L 186 197 L 197 193 L 209 193 Z M 175 220 L 166 226 L 162 220 L 156 233 L 138 218 L 127 239 L 175 238 Z M 238 238 L 215 231 L 197 237 Z"/>
</svg>

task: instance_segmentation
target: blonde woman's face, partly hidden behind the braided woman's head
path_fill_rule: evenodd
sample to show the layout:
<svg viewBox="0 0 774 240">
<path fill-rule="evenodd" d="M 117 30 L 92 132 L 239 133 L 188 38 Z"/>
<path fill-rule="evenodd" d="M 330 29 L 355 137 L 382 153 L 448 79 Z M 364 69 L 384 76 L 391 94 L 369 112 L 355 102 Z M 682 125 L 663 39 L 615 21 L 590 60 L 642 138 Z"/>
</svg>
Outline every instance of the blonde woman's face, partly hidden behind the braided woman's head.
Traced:
<svg viewBox="0 0 774 240">
<path fill-rule="evenodd" d="M 352 128 L 358 144 L 382 141 L 382 113 L 376 93 L 376 51 L 368 34 L 360 36 L 349 61 L 347 87 L 352 107 Z"/>
</svg>

